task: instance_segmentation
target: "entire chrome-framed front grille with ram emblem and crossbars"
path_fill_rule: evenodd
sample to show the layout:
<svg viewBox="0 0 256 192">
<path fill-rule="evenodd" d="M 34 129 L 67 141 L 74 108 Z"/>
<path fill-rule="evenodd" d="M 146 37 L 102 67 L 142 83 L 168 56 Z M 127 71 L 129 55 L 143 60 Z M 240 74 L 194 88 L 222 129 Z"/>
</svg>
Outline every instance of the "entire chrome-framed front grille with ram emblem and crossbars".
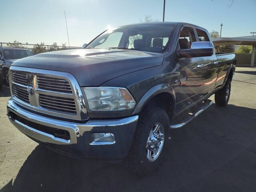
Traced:
<svg viewBox="0 0 256 192">
<path fill-rule="evenodd" d="M 29 110 L 74 120 L 87 120 L 82 90 L 76 78 L 56 72 L 11 66 L 11 95 Z"/>
</svg>

